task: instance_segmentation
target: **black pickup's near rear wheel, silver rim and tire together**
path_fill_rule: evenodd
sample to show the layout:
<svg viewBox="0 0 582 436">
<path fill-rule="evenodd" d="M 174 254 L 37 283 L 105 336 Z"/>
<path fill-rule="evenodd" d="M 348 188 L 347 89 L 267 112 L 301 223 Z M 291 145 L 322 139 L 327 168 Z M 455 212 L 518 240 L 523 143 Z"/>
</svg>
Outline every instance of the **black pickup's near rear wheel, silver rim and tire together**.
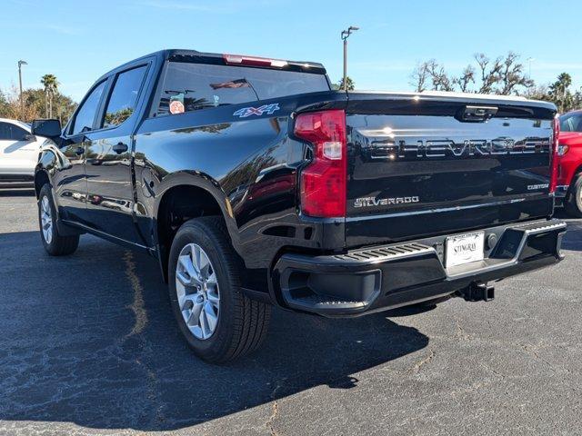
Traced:
<svg viewBox="0 0 582 436">
<path fill-rule="evenodd" d="M 220 218 L 190 220 L 176 233 L 168 264 L 170 302 L 186 342 L 207 362 L 242 357 L 266 337 L 271 306 L 241 292 L 241 268 Z"/>
</svg>

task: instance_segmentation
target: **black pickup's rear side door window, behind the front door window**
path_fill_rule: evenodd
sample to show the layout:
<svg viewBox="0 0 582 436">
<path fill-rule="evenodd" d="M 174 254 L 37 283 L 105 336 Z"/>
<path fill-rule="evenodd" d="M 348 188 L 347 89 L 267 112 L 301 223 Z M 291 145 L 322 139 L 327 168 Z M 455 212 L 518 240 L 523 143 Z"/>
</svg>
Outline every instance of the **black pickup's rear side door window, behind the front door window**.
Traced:
<svg viewBox="0 0 582 436">
<path fill-rule="evenodd" d="M 101 124 L 103 127 L 122 124 L 134 113 L 139 89 L 146 74 L 146 67 L 147 65 L 139 66 L 117 75 L 113 92 L 105 109 L 105 116 Z"/>
</svg>

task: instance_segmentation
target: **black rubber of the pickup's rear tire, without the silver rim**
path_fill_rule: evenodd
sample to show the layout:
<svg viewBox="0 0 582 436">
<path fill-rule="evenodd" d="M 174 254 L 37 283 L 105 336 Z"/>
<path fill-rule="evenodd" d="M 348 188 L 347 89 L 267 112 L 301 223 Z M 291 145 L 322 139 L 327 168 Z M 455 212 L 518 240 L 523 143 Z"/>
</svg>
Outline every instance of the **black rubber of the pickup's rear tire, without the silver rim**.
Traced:
<svg viewBox="0 0 582 436">
<path fill-rule="evenodd" d="M 206 253 L 216 273 L 220 293 L 216 330 L 207 339 L 199 339 L 190 331 L 178 304 L 178 256 L 191 243 Z M 271 306 L 251 300 L 240 291 L 240 272 L 243 267 L 229 241 L 225 224 L 219 217 L 195 218 L 178 229 L 168 262 L 170 302 L 186 342 L 206 362 L 235 360 L 255 351 L 265 340 Z"/>
</svg>

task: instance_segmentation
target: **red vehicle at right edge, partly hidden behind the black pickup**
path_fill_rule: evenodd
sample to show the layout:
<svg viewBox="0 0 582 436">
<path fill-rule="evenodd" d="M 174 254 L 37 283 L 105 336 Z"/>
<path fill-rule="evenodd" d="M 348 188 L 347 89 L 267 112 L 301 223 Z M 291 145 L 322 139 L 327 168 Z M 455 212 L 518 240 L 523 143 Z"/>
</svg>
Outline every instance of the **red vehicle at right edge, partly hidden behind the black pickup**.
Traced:
<svg viewBox="0 0 582 436">
<path fill-rule="evenodd" d="M 582 217 L 582 110 L 560 116 L 557 156 L 557 202 Z"/>
</svg>

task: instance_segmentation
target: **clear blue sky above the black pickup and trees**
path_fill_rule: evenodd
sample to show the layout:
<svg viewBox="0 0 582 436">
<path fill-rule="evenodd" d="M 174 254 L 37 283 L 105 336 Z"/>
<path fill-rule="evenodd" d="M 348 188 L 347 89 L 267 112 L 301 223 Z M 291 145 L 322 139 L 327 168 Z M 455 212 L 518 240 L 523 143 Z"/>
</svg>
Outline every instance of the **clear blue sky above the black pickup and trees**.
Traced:
<svg viewBox="0 0 582 436">
<path fill-rule="evenodd" d="M 483 52 L 513 50 L 531 62 L 537 83 L 567 71 L 582 85 L 582 2 L 303 0 L 2 0 L 0 87 L 25 87 L 55 74 L 80 99 L 117 64 L 162 48 L 256 54 L 326 65 L 342 74 L 339 33 L 349 41 L 349 72 L 358 89 L 410 90 L 415 65 L 430 58 L 457 74 Z"/>
</svg>

